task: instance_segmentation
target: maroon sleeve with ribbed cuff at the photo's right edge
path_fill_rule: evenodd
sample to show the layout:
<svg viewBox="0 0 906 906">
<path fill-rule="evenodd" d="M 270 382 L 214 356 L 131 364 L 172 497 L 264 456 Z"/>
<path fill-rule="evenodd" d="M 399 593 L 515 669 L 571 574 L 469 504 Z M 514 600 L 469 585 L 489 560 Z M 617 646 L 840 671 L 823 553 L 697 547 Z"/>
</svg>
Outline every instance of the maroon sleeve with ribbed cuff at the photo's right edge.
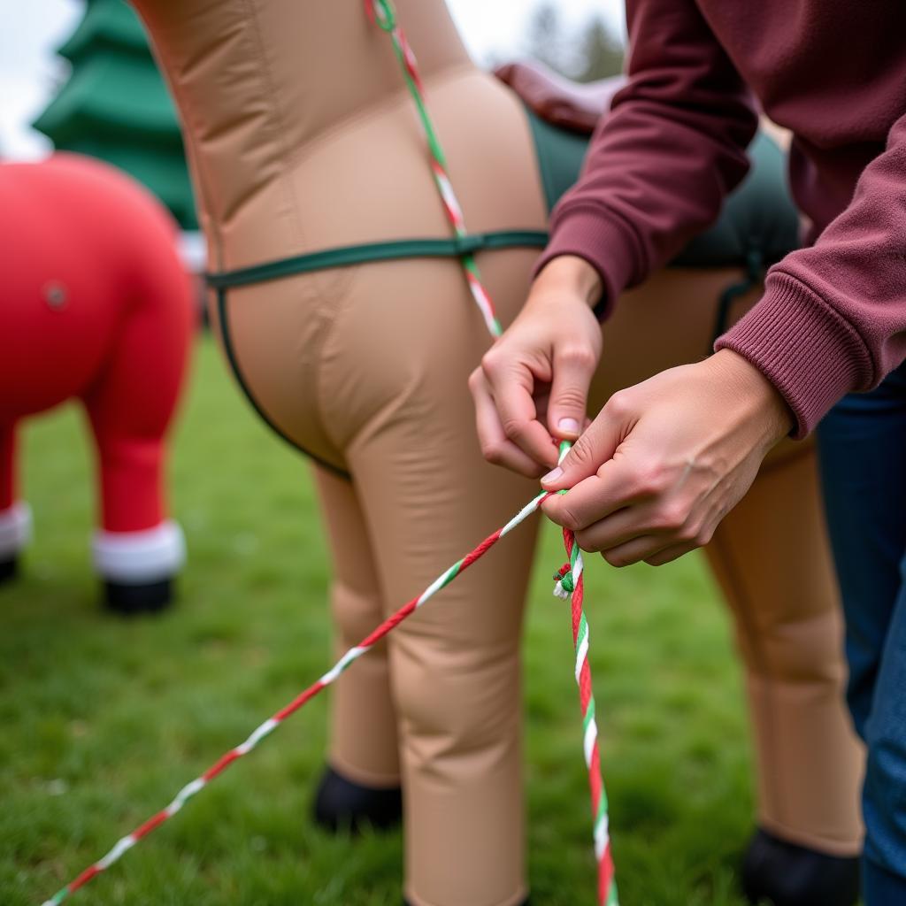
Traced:
<svg viewBox="0 0 906 906">
<path fill-rule="evenodd" d="M 718 349 L 738 352 L 779 390 L 803 437 L 852 390 L 906 357 L 906 115 L 863 170 L 853 200 L 767 274 L 765 295 Z"/>
</svg>

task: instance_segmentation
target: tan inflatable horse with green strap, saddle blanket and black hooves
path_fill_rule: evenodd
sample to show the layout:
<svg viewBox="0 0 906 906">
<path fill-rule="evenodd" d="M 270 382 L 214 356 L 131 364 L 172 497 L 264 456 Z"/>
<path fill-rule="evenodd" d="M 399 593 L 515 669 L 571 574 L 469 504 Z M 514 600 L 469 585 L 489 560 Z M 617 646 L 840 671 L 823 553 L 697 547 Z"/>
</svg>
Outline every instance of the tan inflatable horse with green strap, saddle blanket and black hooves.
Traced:
<svg viewBox="0 0 906 906">
<path fill-rule="evenodd" d="M 212 322 L 252 405 L 316 464 L 345 650 L 535 492 L 478 449 L 467 377 L 489 340 L 458 258 L 476 253 L 511 322 L 582 141 L 477 69 L 442 0 L 400 0 L 471 230 L 454 240 L 399 61 L 361 0 L 136 5 L 184 124 Z M 702 237 L 603 328 L 595 405 L 706 354 L 757 298 L 727 292 L 747 257 L 795 242 L 780 152 L 763 139 L 753 153 L 716 227 L 726 241 Z M 535 529 L 512 535 L 335 689 L 317 814 L 384 823 L 401 784 L 412 906 L 527 896 L 519 640 L 534 545 Z M 750 892 L 849 906 L 860 760 L 810 448 L 777 452 L 709 556 L 757 742 Z"/>
</svg>

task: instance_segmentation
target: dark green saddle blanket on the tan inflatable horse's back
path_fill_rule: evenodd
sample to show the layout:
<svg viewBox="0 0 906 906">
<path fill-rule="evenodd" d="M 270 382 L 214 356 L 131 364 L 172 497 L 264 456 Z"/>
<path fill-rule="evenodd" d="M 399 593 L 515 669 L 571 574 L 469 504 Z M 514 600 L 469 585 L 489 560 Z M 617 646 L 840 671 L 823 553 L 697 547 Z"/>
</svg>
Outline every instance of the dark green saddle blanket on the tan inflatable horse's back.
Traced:
<svg viewBox="0 0 906 906">
<path fill-rule="evenodd" d="M 559 129 L 526 112 L 550 212 L 579 178 L 590 136 Z M 748 152 L 752 168 L 727 199 L 717 223 L 696 236 L 671 265 L 748 266 L 753 251 L 769 265 L 798 245 L 798 217 L 786 188 L 783 151 L 759 133 Z"/>
</svg>

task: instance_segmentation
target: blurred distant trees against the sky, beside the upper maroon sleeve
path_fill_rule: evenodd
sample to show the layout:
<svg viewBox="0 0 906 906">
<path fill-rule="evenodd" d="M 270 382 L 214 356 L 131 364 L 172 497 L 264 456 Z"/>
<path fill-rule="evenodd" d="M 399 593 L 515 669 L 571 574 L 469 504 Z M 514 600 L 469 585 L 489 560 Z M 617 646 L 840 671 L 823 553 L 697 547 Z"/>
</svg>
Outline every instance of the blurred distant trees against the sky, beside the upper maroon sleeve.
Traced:
<svg viewBox="0 0 906 906">
<path fill-rule="evenodd" d="M 558 4 L 551 0 L 535 5 L 525 43 L 536 60 L 577 82 L 594 82 L 622 72 L 622 44 L 604 19 L 593 15 L 579 28 L 569 28 Z"/>
</svg>

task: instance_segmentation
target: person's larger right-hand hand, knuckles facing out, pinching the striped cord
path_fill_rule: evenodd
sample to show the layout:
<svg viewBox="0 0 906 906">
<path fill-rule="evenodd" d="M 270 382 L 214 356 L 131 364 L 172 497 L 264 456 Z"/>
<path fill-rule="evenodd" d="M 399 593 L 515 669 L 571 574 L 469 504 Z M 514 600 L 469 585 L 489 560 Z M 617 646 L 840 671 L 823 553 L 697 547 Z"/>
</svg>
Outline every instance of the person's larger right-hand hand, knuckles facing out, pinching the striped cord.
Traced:
<svg viewBox="0 0 906 906">
<path fill-rule="evenodd" d="M 570 489 L 543 508 L 613 566 L 665 564 L 708 543 L 792 427 L 764 375 L 721 350 L 614 394 L 542 479 Z"/>
</svg>

